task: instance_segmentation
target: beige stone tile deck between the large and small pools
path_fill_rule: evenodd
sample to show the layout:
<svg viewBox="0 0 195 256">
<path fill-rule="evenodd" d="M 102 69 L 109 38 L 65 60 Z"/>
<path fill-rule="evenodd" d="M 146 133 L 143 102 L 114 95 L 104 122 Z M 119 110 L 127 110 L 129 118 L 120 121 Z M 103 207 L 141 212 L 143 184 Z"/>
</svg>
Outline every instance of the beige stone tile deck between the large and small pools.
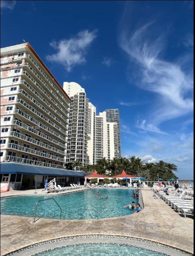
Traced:
<svg viewBox="0 0 195 256">
<path fill-rule="evenodd" d="M 1 216 L 1 255 L 42 241 L 85 234 L 138 237 L 193 253 L 193 218 L 179 216 L 163 200 L 154 198 L 150 189 L 142 190 L 142 197 L 143 212 L 117 218 L 39 219 L 32 224 L 32 217 Z"/>
</svg>

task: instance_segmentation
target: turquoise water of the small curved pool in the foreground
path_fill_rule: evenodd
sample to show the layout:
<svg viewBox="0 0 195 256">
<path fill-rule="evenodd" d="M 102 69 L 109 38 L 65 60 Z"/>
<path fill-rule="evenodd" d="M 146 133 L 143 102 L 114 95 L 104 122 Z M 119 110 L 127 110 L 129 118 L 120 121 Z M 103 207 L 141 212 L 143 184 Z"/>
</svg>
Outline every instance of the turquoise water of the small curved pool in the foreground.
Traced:
<svg viewBox="0 0 195 256">
<path fill-rule="evenodd" d="M 165 256 L 159 252 L 122 244 L 84 244 L 67 246 L 37 256 Z"/>
</svg>

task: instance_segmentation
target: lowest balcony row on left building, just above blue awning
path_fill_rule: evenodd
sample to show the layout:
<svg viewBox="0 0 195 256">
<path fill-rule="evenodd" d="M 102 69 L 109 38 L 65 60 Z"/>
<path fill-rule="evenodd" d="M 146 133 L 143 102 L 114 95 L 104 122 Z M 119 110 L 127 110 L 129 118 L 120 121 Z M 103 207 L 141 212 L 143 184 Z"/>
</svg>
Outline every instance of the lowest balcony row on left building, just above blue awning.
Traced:
<svg viewBox="0 0 195 256">
<path fill-rule="evenodd" d="M 31 164 L 31 165 L 50 167 L 50 168 L 64 169 L 63 165 L 45 163 L 45 162 L 40 162 L 32 159 L 25 159 L 22 157 L 5 156 L 5 162 L 15 162 L 15 163 Z"/>
</svg>

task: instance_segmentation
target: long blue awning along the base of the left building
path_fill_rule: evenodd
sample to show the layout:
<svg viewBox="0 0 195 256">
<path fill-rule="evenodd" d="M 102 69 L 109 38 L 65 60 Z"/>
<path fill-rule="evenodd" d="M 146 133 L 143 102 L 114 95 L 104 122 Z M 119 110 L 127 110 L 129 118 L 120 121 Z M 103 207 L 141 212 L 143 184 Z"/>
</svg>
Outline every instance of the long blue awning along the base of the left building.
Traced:
<svg viewBox="0 0 195 256">
<path fill-rule="evenodd" d="M 83 171 L 72 171 L 20 163 L 1 163 L 1 174 L 52 175 L 81 178 L 84 178 L 85 175 L 88 175 L 88 173 Z"/>
</svg>

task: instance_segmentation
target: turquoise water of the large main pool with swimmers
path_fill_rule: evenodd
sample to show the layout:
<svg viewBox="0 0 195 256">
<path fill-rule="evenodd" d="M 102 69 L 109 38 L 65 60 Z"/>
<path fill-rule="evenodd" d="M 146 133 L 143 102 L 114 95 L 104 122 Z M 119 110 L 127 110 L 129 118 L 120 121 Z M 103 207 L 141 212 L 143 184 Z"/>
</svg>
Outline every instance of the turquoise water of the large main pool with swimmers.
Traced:
<svg viewBox="0 0 195 256">
<path fill-rule="evenodd" d="M 100 191 L 100 196 L 97 192 Z M 90 189 L 67 195 L 53 196 L 62 208 L 61 219 L 100 219 L 132 214 L 135 210 L 123 208 L 138 199 L 132 197 L 134 190 L 123 189 Z M 108 199 L 104 199 L 108 196 Z M 51 196 L 18 196 L 1 199 L 1 214 L 34 216 L 38 200 Z M 60 218 L 60 210 L 53 200 L 40 202 L 37 217 Z"/>
</svg>

